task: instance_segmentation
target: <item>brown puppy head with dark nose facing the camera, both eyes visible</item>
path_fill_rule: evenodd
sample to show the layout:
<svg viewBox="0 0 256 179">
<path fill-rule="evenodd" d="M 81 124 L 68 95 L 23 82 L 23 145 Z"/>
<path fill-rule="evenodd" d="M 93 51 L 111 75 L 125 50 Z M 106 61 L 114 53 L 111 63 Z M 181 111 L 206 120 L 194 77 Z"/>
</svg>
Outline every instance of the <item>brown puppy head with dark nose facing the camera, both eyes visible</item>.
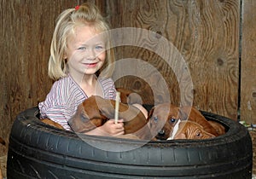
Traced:
<svg viewBox="0 0 256 179">
<path fill-rule="evenodd" d="M 166 140 L 177 123 L 178 107 L 164 103 L 153 107 L 148 114 L 151 133 L 159 140 Z"/>
</svg>

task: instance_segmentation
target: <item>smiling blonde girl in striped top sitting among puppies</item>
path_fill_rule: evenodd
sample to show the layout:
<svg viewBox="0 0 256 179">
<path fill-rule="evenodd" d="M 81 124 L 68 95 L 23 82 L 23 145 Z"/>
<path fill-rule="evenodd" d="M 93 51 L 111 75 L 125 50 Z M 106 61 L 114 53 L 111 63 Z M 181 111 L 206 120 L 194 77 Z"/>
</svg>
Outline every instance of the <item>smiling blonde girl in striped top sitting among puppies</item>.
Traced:
<svg viewBox="0 0 256 179">
<path fill-rule="evenodd" d="M 91 3 L 67 9 L 59 15 L 49 58 L 49 77 L 56 81 L 45 101 L 38 104 L 41 118 L 50 118 L 64 129 L 72 130 L 68 119 L 90 95 L 115 99 L 116 90 L 110 78 L 112 69 L 108 69 L 114 60 L 113 51 L 108 48 L 107 33 L 101 35 L 108 30 L 99 10 Z M 119 119 L 115 124 L 110 119 L 86 134 L 122 135 L 123 121 Z"/>
</svg>

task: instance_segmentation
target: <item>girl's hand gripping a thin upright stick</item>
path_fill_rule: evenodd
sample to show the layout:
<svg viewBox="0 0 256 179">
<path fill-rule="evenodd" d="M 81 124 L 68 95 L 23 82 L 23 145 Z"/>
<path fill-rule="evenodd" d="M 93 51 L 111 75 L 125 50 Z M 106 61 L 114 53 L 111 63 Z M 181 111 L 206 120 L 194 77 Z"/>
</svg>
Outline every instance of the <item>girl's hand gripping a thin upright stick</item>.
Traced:
<svg viewBox="0 0 256 179">
<path fill-rule="evenodd" d="M 109 119 L 105 124 L 98 127 L 103 133 L 108 133 L 109 136 L 119 136 L 125 134 L 123 119 L 119 119 L 118 123 L 114 123 L 114 119 Z"/>
</svg>

